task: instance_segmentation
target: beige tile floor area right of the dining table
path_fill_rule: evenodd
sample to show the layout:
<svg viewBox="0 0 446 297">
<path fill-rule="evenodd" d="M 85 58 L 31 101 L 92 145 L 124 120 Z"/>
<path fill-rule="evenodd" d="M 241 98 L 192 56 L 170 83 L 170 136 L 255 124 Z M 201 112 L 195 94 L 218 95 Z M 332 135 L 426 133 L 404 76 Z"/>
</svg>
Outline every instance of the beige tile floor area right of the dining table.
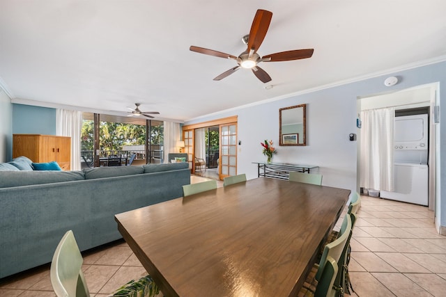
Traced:
<svg viewBox="0 0 446 297">
<path fill-rule="evenodd" d="M 433 211 L 361 199 L 348 268 L 357 295 L 446 296 L 446 236 L 436 232 Z"/>
</svg>

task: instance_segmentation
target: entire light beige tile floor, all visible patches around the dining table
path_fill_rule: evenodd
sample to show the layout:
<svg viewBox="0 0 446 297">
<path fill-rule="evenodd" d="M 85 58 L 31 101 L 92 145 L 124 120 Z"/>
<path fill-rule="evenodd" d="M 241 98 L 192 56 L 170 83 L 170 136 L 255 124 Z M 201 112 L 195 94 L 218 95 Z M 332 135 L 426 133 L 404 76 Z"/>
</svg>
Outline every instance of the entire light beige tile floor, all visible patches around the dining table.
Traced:
<svg viewBox="0 0 446 297">
<path fill-rule="evenodd" d="M 351 246 L 358 296 L 446 296 L 446 237 L 426 207 L 362 196 Z M 84 252 L 84 271 L 91 296 L 107 296 L 146 273 L 124 241 Z M 49 265 L 0 280 L 0 296 L 55 296 Z"/>
</svg>

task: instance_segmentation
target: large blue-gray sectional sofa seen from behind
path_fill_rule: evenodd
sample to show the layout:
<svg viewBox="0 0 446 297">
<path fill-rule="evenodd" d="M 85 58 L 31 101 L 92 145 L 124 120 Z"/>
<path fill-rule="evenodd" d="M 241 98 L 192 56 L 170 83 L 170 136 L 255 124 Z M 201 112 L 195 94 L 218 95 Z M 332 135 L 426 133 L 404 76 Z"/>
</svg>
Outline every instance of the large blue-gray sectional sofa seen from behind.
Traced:
<svg viewBox="0 0 446 297">
<path fill-rule="evenodd" d="M 115 214 L 181 197 L 190 184 L 186 162 L 65 172 L 14 161 L 0 163 L 0 278 L 51 262 L 68 230 L 81 250 L 121 239 Z"/>
</svg>

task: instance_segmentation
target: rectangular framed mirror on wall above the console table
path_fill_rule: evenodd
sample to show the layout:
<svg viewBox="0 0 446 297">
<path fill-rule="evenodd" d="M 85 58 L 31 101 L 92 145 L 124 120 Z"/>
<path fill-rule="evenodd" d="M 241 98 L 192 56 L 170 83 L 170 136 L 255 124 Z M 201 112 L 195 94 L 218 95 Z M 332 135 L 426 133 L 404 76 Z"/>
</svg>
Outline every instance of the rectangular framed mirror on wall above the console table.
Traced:
<svg viewBox="0 0 446 297">
<path fill-rule="evenodd" d="M 307 104 L 279 109 L 279 145 L 307 145 Z"/>
</svg>

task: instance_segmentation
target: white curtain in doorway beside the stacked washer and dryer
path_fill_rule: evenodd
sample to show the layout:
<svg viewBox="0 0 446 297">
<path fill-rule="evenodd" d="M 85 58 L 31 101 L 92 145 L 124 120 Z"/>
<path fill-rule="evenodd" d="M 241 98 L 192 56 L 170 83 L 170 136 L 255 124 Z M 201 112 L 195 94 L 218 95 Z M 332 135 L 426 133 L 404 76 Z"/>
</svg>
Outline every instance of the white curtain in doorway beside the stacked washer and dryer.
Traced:
<svg viewBox="0 0 446 297">
<path fill-rule="evenodd" d="M 362 111 L 360 186 L 394 191 L 393 108 Z"/>
</svg>

